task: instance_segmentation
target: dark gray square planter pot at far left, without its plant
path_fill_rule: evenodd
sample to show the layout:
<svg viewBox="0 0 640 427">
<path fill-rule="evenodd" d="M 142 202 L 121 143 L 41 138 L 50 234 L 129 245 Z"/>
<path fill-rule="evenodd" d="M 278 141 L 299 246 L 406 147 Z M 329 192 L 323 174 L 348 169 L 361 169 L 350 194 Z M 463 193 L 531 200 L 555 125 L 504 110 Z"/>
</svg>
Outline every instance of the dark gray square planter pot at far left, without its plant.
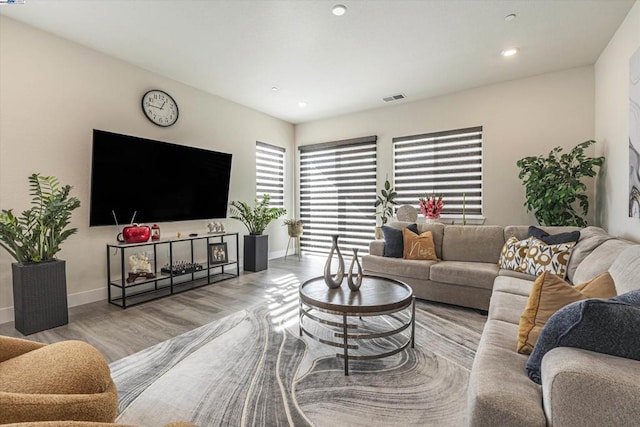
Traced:
<svg viewBox="0 0 640 427">
<path fill-rule="evenodd" d="M 65 262 L 13 263 L 15 327 L 23 335 L 69 323 Z"/>
</svg>

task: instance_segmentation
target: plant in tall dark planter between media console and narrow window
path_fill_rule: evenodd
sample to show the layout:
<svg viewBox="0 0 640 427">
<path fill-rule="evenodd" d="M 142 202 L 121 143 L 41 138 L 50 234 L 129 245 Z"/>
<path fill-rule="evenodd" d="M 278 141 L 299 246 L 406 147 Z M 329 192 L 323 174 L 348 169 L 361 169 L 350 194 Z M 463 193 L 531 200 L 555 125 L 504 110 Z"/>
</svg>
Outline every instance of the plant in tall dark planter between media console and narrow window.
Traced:
<svg viewBox="0 0 640 427">
<path fill-rule="evenodd" d="M 269 259 L 269 236 L 262 233 L 269 223 L 287 211 L 269 207 L 270 196 L 254 200 L 253 207 L 246 202 L 231 202 L 231 218 L 241 221 L 249 230 L 244 236 L 244 270 L 261 271 L 267 268 Z"/>
</svg>

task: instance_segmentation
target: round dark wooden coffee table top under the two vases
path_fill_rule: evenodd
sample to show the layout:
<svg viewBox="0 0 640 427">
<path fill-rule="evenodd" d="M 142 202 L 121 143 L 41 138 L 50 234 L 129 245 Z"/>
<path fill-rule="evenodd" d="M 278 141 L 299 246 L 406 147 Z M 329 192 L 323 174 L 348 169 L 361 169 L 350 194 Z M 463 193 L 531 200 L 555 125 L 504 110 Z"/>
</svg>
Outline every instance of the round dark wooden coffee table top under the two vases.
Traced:
<svg viewBox="0 0 640 427">
<path fill-rule="evenodd" d="M 313 307 L 339 313 L 374 314 L 397 311 L 411 304 L 413 289 L 406 283 L 386 277 L 363 276 L 357 292 L 347 286 L 329 289 L 324 277 L 314 277 L 300 286 L 300 299 Z"/>
</svg>

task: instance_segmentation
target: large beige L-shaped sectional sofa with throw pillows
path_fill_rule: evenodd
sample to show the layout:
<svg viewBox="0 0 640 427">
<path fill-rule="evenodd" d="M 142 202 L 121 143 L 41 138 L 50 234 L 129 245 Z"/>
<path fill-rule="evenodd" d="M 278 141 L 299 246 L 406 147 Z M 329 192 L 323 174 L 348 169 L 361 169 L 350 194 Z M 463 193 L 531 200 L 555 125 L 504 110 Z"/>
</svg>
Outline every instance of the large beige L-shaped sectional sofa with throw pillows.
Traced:
<svg viewBox="0 0 640 427">
<path fill-rule="evenodd" d="M 363 266 L 367 274 L 409 283 L 418 298 L 489 309 L 470 374 L 469 425 L 640 425 L 640 361 L 561 347 L 543 358 L 541 386 L 528 378 L 528 356 L 515 348 L 520 315 L 535 278 L 497 266 L 505 240 L 511 235 L 525 238 L 527 228 L 421 224 L 419 231 L 434 232 L 441 261 L 383 258 L 384 242 L 376 241 Z M 546 228 L 553 234 L 568 230 L 573 229 Z M 568 280 L 581 283 L 605 271 L 618 294 L 640 287 L 640 245 L 597 227 L 582 229 Z"/>
</svg>

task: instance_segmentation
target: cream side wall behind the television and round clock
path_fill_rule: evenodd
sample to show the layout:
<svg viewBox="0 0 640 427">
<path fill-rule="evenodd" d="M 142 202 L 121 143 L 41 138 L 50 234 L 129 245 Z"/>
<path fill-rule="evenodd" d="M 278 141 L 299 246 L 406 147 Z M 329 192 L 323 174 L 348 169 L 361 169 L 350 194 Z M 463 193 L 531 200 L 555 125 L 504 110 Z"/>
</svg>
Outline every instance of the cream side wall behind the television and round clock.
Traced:
<svg viewBox="0 0 640 427">
<path fill-rule="evenodd" d="M 174 126 L 160 128 L 144 117 L 140 99 L 152 88 L 176 99 L 180 118 Z M 285 147 L 291 165 L 286 208 L 293 212 L 293 125 L 0 16 L 0 207 L 28 207 L 27 177 L 33 172 L 74 187 L 82 202 L 72 222 L 79 232 L 59 254 L 67 261 L 71 305 L 106 299 L 105 243 L 116 235 L 115 226 L 88 227 L 94 128 L 231 153 L 229 200 L 255 197 L 256 141 Z M 160 227 L 170 236 L 205 232 L 206 223 Z M 224 223 L 246 234 L 239 221 Z M 281 223 L 268 230 L 272 255 L 284 255 L 286 248 Z M 0 323 L 13 319 L 11 262 L 0 250 Z"/>
</svg>

